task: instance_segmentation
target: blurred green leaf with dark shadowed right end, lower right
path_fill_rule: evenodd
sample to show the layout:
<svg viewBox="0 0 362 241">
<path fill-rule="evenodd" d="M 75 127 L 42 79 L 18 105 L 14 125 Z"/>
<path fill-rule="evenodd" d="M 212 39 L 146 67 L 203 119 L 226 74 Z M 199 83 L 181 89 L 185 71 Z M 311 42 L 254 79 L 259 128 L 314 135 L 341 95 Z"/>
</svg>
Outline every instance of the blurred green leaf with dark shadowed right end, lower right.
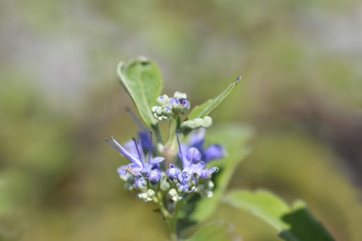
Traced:
<svg viewBox="0 0 362 241">
<path fill-rule="evenodd" d="M 290 207 L 274 193 L 265 190 L 230 191 L 225 202 L 268 222 L 288 241 L 333 241 L 334 239 L 301 201 Z"/>
</svg>

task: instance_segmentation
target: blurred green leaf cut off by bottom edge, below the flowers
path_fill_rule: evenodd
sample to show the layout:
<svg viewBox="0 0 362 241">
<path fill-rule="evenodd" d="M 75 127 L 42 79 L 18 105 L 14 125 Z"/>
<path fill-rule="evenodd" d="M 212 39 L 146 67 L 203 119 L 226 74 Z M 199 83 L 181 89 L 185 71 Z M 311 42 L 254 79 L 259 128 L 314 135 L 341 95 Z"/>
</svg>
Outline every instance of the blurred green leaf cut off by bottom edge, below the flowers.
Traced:
<svg viewBox="0 0 362 241">
<path fill-rule="evenodd" d="M 184 241 L 231 241 L 235 240 L 231 233 L 232 226 L 222 221 L 204 224 L 192 237 Z"/>
</svg>

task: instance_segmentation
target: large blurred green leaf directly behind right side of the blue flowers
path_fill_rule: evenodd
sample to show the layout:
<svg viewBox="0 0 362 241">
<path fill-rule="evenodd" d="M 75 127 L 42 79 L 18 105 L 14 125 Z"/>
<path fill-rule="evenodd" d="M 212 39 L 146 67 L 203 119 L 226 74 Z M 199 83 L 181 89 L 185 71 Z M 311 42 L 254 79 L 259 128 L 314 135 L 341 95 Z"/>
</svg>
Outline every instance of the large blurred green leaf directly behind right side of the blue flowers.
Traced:
<svg viewBox="0 0 362 241">
<path fill-rule="evenodd" d="M 237 165 L 249 153 L 245 143 L 252 136 L 252 129 L 243 125 L 224 125 L 213 128 L 208 132 L 208 143 L 223 145 L 226 155 L 224 158 L 208 163 L 208 167 L 219 167 L 219 172 L 213 179 L 215 188 L 212 198 L 200 198 L 195 202 L 189 220 L 202 222 L 210 218 L 219 205 L 221 198 L 228 187 L 232 174 Z"/>
</svg>

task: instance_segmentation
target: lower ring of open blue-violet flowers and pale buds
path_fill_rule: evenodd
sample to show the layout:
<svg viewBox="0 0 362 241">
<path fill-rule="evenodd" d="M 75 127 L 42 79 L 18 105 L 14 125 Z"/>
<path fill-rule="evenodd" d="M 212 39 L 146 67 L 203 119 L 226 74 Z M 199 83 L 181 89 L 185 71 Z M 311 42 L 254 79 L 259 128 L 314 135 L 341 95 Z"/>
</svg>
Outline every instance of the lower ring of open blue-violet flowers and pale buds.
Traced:
<svg viewBox="0 0 362 241">
<path fill-rule="evenodd" d="M 173 163 L 165 165 L 165 158 L 153 156 L 152 133 L 139 132 L 138 139 L 132 139 L 124 145 L 111 137 L 105 140 L 128 158 L 130 163 L 117 169 L 119 176 L 125 181 L 125 188 L 139 191 L 138 197 L 145 201 L 158 202 L 165 196 L 168 200 L 177 202 L 188 193 L 199 193 L 201 196 L 212 197 L 214 183 L 212 174 L 217 167 L 206 168 L 208 161 L 221 158 L 224 155 L 220 145 L 203 147 L 205 129 L 192 132 L 188 143 L 180 143 L 177 134 L 178 156 Z M 148 137 L 149 140 L 143 138 Z M 141 143 L 148 141 L 148 147 Z"/>
</svg>

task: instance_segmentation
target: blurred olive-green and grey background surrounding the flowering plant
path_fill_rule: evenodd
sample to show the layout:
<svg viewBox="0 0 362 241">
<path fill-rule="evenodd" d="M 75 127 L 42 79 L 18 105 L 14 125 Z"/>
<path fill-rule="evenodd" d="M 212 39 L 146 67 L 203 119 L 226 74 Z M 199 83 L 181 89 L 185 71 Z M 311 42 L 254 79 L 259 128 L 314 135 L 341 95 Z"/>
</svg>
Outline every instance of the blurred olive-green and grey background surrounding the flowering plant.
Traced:
<svg viewBox="0 0 362 241">
<path fill-rule="evenodd" d="M 357 0 L 0 1 L 1 240 L 166 238 L 103 141 L 137 131 L 115 70 L 139 55 L 194 105 L 242 74 L 212 112 L 256 130 L 230 188 L 301 198 L 337 240 L 361 240 L 361 26 Z M 279 240 L 249 213 L 213 218 Z"/>
</svg>

